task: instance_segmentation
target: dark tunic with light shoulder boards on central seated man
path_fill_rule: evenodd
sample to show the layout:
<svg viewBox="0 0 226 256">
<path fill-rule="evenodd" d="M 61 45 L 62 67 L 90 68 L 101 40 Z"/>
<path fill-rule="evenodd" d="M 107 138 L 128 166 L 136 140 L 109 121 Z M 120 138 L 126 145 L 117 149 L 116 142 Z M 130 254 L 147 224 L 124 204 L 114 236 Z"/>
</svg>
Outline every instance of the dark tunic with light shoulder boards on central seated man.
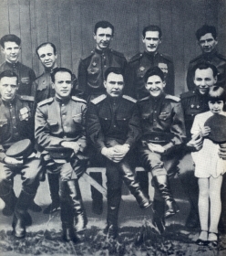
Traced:
<svg viewBox="0 0 226 256">
<path fill-rule="evenodd" d="M 99 152 L 108 139 L 133 146 L 141 130 L 136 100 L 123 95 L 112 98 L 103 94 L 87 108 L 87 135 Z"/>
</svg>

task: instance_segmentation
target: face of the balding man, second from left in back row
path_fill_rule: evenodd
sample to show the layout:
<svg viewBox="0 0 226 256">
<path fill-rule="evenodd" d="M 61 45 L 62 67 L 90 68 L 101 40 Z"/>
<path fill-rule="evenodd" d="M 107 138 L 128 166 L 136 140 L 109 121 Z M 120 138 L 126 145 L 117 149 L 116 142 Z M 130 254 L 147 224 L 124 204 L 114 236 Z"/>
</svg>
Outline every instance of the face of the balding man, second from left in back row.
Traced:
<svg viewBox="0 0 226 256">
<path fill-rule="evenodd" d="M 38 57 L 46 69 L 56 68 L 57 55 L 54 54 L 54 48 L 46 45 L 37 50 Z"/>
</svg>

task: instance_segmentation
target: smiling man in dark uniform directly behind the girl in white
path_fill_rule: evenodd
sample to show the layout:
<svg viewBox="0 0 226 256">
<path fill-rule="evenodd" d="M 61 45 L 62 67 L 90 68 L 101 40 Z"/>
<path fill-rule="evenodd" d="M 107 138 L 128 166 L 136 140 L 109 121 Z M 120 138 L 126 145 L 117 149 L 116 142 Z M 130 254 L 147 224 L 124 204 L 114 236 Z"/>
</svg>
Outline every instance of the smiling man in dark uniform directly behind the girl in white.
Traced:
<svg viewBox="0 0 226 256">
<path fill-rule="evenodd" d="M 199 150 L 202 145 L 201 138 L 191 138 L 190 129 L 197 114 L 209 111 L 208 92 L 210 87 L 217 83 L 218 79 L 218 69 L 209 62 L 198 62 L 191 71 L 192 72 L 190 74 L 193 74 L 192 80 L 196 88 L 193 91 L 188 91 L 180 95 L 187 134 L 187 144 L 184 146 L 183 155 Z M 221 151 L 220 154 L 222 154 Z M 225 157 L 225 155 L 222 155 L 222 157 Z M 190 163 L 193 163 L 191 158 Z M 198 179 L 194 176 L 193 165 L 190 165 L 189 168 L 183 171 L 183 173 L 180 171 L 180 180 L 190 200 L 190 214 L 186 221 L 186 227 L 189 229 L 195 229 L 200 226 L 198 209 Z M 224 184 L 226 184 L 225 177 L 226 176 L 223 176 Z M 222 191 L 224 189 L 223 187 L 224 186 L 222 186 L 221 189 Z M 223 220 L 226 215 L 226 198 L 223 193 L 221 194 L 221 198 L 222 214 L 220 229 L 226 229 L 226 221 Z"/>
</svg>

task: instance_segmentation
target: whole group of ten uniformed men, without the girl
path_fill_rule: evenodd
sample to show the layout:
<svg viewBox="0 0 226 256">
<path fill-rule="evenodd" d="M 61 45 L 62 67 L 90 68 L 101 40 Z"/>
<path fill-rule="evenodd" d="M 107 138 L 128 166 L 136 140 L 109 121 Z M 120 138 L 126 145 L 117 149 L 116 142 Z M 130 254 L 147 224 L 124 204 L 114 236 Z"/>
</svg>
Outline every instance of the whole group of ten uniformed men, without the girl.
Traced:
<svg viewBox="0 0 226 256">
<path fill-rule="evenodd" d="M 158 51 L 162 38 L 158 26 L 143 29 L 145 51 L 128 62 L 109 48 L 113 36 L 114 27 L 108 21 L 96 24 L 96 48 L 80 61 L 77 78 L 69 69 L 57 67 L 53 43 L 36 48 L 45 69 L 36 78 L 32 69 L 18 61 L 20 38 L 5 35 L 0 40 L 5 54 L 0 67 L 0 197 L 5 202 L 3 214 L 14 214 L 16 238 L 24 238 L 26 226 L 32 223 L 27 209 L 41 210 L 34 197 L 47 173 L 52 203 L 44 213 L 60 208 L 63 240 L 77 242 L 78 233 L 87 225 L 77 180 L 87 166 L 106 167 L 108 238 L 118 235 L 122 181 L 139 207 L 148 208 L 151 172 L 152 222 L 160 233 L 165 230 L 165 219 L 179 212 L 169 177 L 178 172 L 183 155 L 202 146 L 199 137 L 191 138 L 190 128 L 196 114 L 209 110 L 209 88 L 214 84 L 225 88 L 226 59 L 216 50 L 216 29 L 204 25 L 197 30 L 202 54 L 190 61 L 189 91 L 180 98 L 174 96 L 173 62 Z M 219 155 L 226 158 L 226 146 Z M 138 165 L 145 172 L 135 175 Z M 193 171 L 191 166 L 180 173 L 190 199 L 186 226 L 192 229 L 199 227 L 199 191 Z M 13 188 L 16 174 L 22 176 L 18 198 Z M 100 172 L 90 172 L 90 176 L 102 183 Z M 94 187 L 91 192 L 93 211 L 101 214 L 102 194 Z M 222 230 L 225 195 L 222 191 Z"/>
</svg>

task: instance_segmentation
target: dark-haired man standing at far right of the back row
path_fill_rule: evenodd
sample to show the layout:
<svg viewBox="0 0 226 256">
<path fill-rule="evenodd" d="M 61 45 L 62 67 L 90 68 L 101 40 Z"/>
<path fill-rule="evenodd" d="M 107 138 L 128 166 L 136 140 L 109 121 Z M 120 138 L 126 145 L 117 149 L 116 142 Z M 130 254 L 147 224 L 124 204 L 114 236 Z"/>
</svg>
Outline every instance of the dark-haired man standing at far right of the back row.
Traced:
<svg viewBox="0 0 226 256">
<path fill-rule="evenodd" d="M 218 69 L 218 85 L 225 89 L 226 79 L 226 58 L 217 51 L 218 37 L 216 27 L 203 25 L 195 33 L 202 54 L 195 59 L 190 60 L 187 73 L 187 87 L 189 91 L 196 88 L 192 78 L 193 67 L 202 61 L 206 61 L 214 65 Z"/>
</svg>

